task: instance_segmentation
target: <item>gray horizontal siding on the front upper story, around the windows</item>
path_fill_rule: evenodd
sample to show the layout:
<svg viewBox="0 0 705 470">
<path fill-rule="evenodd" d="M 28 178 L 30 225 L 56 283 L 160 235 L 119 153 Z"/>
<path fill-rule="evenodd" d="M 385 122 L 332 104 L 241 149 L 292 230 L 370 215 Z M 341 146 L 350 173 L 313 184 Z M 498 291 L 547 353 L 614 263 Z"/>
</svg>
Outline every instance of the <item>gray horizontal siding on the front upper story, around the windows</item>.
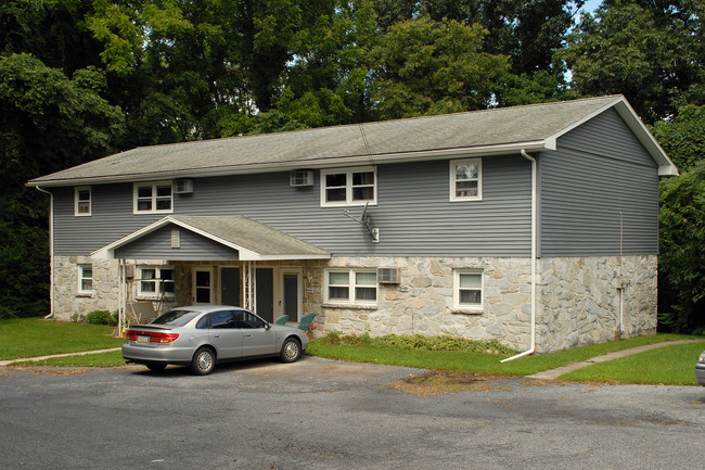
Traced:
<svg viewBox="0 0 705 470">
<path fill-rule="evenodd" d="M 380 243 L 345 207 L 320 206 L 319 172 L 311 188 L 290 187 L 289 172 L 195 179 L 193 194 L 175 195 L 174 208 L 182 215 L 244 215 L 335 256 L 528 256 L 528 162 L 520 155 L 483 158 L 482 201 L 451 203 L 449 172 L 449 161 L 377 167 L 377 205 L 368 214 L 380 228 Z M 129 183 L 93 186 L 90 217 L 74 217 L 73 188 L 55 194 L 56 254 L 89 254 L 165 216 L 132 214 Z M 361 206 L 347 208 L 362 213 Z"/>
</svg>

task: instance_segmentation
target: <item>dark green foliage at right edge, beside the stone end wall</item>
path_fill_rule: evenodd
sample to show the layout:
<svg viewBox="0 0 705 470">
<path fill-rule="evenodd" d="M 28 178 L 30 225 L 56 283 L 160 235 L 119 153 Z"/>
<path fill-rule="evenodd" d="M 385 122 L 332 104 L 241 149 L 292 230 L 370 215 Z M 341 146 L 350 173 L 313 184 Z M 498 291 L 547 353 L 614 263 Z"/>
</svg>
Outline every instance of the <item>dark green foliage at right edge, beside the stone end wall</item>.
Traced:
<svg viewBox="0 0 705 470">
<path fill-rule="evenodd" d="M 663 326 L 705 326 L 705 160 L 661 187 L 658 309 Z"/>
</svg>

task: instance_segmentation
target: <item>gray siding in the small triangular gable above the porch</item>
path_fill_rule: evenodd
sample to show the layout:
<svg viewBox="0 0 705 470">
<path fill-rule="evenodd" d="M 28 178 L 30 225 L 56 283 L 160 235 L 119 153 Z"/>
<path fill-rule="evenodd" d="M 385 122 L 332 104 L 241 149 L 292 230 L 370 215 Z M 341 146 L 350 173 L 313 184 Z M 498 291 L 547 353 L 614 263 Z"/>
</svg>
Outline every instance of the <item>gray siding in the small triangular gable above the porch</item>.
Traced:
<svg viewBox="0 0 705 470">
<path fill-rule="evenodd" d="M 172 229 L 180 230 L 181 247 L 171 247 Z M 236 250 L 231 250 L 203 236 L 169 225 L 137 239 L 121 249 L 115 250 L 115 257 L 128 259 L 236 261 L 240 255 Z"/>
</svg>

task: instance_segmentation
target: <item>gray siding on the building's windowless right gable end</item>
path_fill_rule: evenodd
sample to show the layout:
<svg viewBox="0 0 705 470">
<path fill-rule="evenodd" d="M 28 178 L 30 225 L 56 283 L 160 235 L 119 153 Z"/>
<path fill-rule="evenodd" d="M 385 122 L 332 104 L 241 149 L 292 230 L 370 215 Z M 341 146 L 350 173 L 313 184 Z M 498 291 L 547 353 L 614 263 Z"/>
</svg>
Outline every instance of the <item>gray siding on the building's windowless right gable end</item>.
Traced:
<svg viewBox="0 0 705 470">
<path fill-rule="evenodd" d="M 614 110 L 561 137 L 539 168 L 541 256 L 657 253 L 658 168 Z"/>
</svg>

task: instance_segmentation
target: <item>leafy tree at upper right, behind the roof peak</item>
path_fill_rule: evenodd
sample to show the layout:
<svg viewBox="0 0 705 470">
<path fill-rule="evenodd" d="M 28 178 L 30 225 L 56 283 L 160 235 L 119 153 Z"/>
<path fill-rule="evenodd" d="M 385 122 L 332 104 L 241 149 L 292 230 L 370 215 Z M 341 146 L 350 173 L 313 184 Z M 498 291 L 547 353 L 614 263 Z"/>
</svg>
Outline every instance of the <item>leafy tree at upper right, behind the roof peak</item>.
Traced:
<svg viewBox="0 0 705 470">
<path fill-rule="evenodd" d="M 607 1 L 556 52 L 577 94 L 623 93 L 654 123 L 702 101 L 703 2 Z"/>
</svg>

